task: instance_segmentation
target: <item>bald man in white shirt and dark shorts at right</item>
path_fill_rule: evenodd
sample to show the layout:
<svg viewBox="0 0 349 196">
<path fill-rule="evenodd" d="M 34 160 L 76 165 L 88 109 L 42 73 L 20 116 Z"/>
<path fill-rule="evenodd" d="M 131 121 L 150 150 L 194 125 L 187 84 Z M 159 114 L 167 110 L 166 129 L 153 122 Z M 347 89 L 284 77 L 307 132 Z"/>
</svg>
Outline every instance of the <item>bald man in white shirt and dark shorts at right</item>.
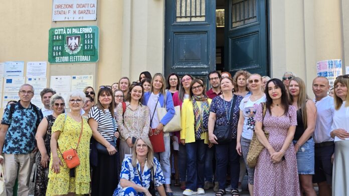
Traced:
<svg viewBox="0 0 349 196">
<path fill-rule="evenodd" d="M 317 119 L 314 131 L 315 174 L 313 182 L 319 187 L 319 196 L 331 195 L 332 162 L 334 152 L 333 138 L 330 136 L 334 111 L 333 97 L 327 95 L 329 82 L 326 77 L 317 76 L 312 82 L 317 107 Z"/>
</svg>

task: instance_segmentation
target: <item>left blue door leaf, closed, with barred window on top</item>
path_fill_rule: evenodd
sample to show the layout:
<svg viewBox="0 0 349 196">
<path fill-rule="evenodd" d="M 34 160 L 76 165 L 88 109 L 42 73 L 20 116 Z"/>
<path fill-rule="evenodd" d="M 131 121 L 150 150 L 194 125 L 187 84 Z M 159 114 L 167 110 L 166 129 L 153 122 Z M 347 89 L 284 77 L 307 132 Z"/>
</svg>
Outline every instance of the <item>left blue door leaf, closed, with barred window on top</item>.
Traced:
<svg viewBox="0 0 349 196">
<path fill-rule="evenodd" d="M 216 68 L 216 0 L 166 0 L 165 75 Z"/>
</svg>

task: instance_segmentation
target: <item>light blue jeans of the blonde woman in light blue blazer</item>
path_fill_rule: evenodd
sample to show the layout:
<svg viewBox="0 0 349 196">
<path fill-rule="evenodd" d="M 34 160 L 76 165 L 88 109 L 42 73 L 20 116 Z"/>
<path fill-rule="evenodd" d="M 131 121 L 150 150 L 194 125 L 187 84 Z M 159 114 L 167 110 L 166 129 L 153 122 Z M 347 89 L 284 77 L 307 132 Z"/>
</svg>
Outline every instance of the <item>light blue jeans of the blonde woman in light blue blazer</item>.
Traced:
<svg viewBox="0 0 349 196">
<path fill-rule="evenodd" d="M 165 144 L 165 151 L 154 153 L 154 156 L 160 160 L 163 176 L 165 177 L 165 184 L 171 184 L 171 166 L 169 164 L 170 154 L 170 136 L 163 136 L 163 142 Z"/>
</svg>

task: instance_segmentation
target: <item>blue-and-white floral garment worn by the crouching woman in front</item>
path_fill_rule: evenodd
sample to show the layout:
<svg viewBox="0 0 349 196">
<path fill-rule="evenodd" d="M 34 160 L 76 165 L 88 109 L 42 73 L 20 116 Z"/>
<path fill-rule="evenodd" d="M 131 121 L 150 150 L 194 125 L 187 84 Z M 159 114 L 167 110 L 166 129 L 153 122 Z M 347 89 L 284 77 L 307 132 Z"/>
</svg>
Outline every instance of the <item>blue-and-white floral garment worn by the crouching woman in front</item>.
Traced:
<svg viewBox="0 0 349 196">
<path fill-rule="evenodd" d="M 153 161 L 155 164 L 153 166 L 153 181 L 156 187 L 164 184 L 165 178 L 162 174 L 160 162 L 155 157 L 153 157 Z M 149 188 L 151 168 L 148 168 L 146 161 L 145 161 L 143 172 L 139 174 L 138 171 L 141 172 L 140 164 L 138 163 L 138 160 L 137 160 L 137 168 L 135 168 L 132 166 L 132 157 L 128 156 L 122 161 L 120 179 L 127 179 L 129 181 L 134 182 L 135 184 L 141 185 L 145 188 Z M 140 176 L 142 180 L 140 180 Z M 125 195 L 124 194 L 125 189 L 126 187 L 121 187 L 119 182 L 113 195 Z M 144 195 L 144 193 L 138 192 L 137 195 Z"/>
</svg>

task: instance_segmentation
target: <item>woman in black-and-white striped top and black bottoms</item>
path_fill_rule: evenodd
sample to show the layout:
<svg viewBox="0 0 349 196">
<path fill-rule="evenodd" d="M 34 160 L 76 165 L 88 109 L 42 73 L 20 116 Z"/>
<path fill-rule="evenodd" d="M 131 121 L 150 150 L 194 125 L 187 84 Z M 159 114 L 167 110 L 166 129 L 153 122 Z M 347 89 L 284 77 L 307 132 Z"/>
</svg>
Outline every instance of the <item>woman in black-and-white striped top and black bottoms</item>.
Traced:
<svg viewBox="0 0 349 196">
<path fill-rule="evenodd" d="M 118 124 L 114 119 L 112 90 L 100 86 L 97 103 L 90 109 L 88 123 L 93 132 L 90 162 L 92 165 L 91 195 L 111 195 L 118 183 L 116 139 Z M 97 146 L 99 145 L 99 146 Z"/>
</svg>

